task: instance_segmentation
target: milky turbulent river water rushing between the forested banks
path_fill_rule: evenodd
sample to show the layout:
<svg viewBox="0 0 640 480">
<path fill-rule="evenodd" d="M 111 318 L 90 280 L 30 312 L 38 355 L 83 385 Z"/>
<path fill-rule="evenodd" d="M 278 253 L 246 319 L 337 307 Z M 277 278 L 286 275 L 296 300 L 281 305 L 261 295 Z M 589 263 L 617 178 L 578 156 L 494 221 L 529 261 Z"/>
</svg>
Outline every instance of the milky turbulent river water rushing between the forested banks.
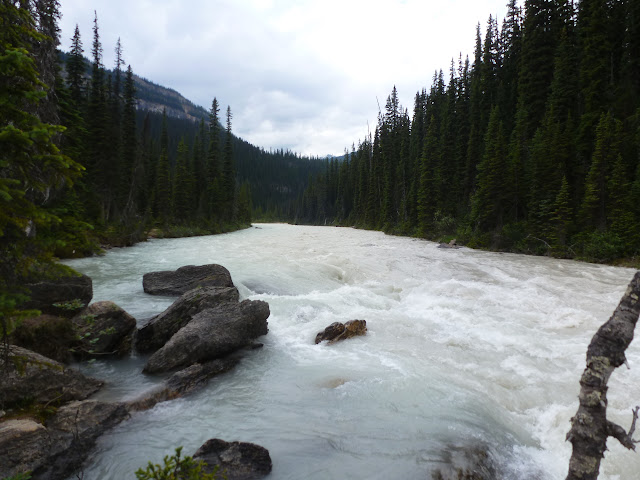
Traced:
<svg viewBox="0 0 640 480">
<path fill-rule="evenodd" d="M 488 452 L 499 479 L 563 479 L 565 442 L 591 336 L 633 270 L 471 249 L 349 228 L 260 225 L 152 240 L 68 262 L 139 325 L 172 299 L 142 275 L 219 263 L 243 298 L 269 303 L 264 348 L 199 393 L 136 413 L 99 442 L 86 480 L 134 478 L 147 461 L 209 438 L 254 442 L 273 479 L 428 479 Z M 334 321 L 364 337 L 314 345 Z M 618 369 L 609 416 L 629 427 L 640 402 L 640 347 Z M 131 399 L 159 379 L 144 358 L 83 365 L 102 398 Z M 602 480 L 634 480 L 640 456 L 609 440 Z"/>
</svg>

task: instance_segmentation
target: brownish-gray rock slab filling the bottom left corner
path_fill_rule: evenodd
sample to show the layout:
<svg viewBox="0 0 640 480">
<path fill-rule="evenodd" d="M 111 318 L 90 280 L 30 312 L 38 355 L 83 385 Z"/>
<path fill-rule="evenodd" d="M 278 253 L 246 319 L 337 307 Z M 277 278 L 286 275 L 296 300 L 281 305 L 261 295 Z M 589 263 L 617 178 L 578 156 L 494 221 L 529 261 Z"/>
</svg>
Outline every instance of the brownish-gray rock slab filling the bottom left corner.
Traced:
<svg viewBox="0 0 640 480">
<path fill-rule="evenodd" d="M 44 425 L 0 423 L 0 478 L 31 471 L 34 480 L 64 480 L 80 468 L 96 439 L 127 416 L 124 404 L 85 400 L 61 407 Z"/>
</svg>

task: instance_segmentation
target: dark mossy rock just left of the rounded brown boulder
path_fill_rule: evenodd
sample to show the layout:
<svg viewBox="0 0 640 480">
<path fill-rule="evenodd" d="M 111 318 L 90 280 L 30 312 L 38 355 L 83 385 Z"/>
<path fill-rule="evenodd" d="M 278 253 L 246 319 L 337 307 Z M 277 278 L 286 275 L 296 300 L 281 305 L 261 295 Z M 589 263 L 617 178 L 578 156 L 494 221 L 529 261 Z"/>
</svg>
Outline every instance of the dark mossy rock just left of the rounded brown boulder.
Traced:
<svg viewBox="0 0 640 480">
<path fill-rule="evenodd" d="M 39 315 L 23 320 L 11 334 L 11 343 L 67 363 L 77 338 L 71 319 Z"/>
</svg>

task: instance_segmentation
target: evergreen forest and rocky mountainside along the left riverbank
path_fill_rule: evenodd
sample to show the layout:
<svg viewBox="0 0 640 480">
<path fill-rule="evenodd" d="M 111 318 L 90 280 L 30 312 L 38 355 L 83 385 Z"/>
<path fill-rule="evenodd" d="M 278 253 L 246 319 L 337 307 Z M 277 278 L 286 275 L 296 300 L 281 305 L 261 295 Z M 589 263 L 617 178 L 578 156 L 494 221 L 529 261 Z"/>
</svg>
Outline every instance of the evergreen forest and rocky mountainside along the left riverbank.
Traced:
<svg viewBox="0 0 640 480">
<path fill-rule="evenodd" d="M 324 169 L 235 137 L 231 108 L 221 112 L 216 98 L 207 112 L 134 76 L 119 40 L 106 68 L 97 14 L 90 58 L 77 26 L 70 51 L 60 52 L 59 17 L 58 0 L 0 3 L 3 338 L 29 294 L 24 285 L 64 270 L 55 258 L 150 233 L 243 228 L 252 214 L 290 218 Z"/>
</svg>

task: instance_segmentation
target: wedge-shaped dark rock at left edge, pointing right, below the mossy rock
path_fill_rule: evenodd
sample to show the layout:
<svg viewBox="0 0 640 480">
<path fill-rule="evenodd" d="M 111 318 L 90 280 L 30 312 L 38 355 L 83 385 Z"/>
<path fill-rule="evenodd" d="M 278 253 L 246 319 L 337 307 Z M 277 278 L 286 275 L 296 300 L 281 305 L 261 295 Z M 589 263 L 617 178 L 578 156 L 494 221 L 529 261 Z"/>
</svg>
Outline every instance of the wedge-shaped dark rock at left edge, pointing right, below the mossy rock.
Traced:
<svg viewBox="0 0 640 480">
<path fill-rule="evenodd" d="M 3 352 L 0 354 L 4 355 Z M 0 405 L 3 408 L 32 403 L 55 406 L 72 400 L 83 400 L 98 391 L 103 384 L 50 358 L 15 345 L 9 346 L 4 368 L 0 382 Z"/>
</svg>

